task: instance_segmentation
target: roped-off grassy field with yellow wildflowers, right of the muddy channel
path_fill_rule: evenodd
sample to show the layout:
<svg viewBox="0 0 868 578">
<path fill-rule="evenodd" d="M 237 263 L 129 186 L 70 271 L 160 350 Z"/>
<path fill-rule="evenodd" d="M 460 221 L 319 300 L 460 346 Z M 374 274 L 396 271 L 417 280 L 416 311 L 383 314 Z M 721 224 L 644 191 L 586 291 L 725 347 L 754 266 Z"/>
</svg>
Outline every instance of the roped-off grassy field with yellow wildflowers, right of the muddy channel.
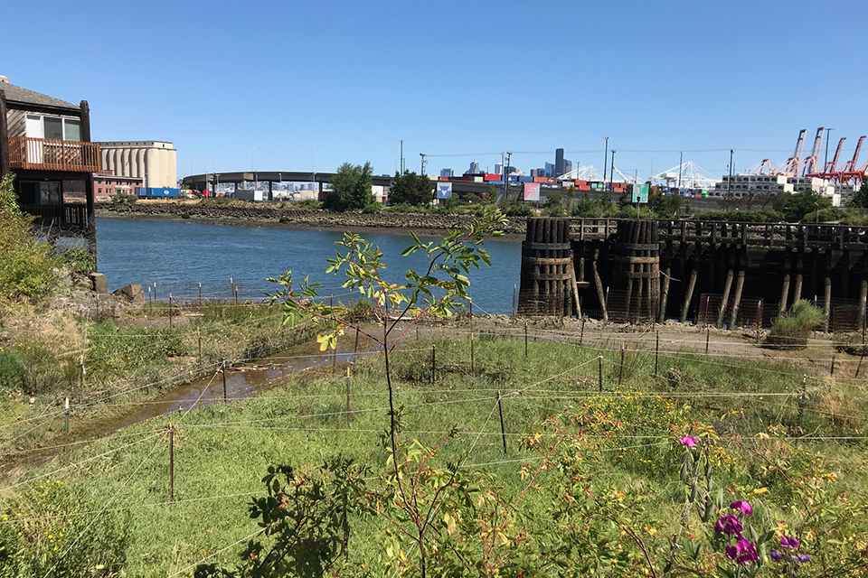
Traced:
<svg viewBox="0 0 868 578">
<path fill-rule="evenodd" d="M 573 553 L 585 565 L 576 562 L 572 571 L 644 575 L 651 568 L 662 575 L 656 562 L 630 554 L 630 548 L 639 552 L 641 543 L 665 554 L 668 536 L 685 532 L 685 519 L 691 536 L 702 533 L 693 509 L 684 514 L 685 484 L 679 479 L 684 447 L 678 439 L 694 435 L 711 440 L 715 491 L 755 500 L 757 527 L 803 536 L 802 551 L 814 560 L 798 575 L 863 572 L 856 561 L 868 554 L 866 396 L 858 380 L 803 378 L 792 365 L 709 360 L 690 352 L 658 359 L 654 377 L 653 352 L 627 350 L 623 364 L 621 355 L 536 342 L 525 358 L 523 340 L 477 335 L 471 368 L 467 337 L 411 342 L 392 355 L 401 438 L 439 446 L 432 467 L 458 461 L 463 470 L 486 476 L 486 487 L 496 488 L 502 503 L 519 504 L 512 534 L 505 530 L 500 546 L 507 552 L 520 550 L 520 544 L 538 548 L 557 535 L 593 533 L 596 540 L 611 533 L 609 555 L 594 555 L 588 566 L 590 555 Z M 57 555 L 68 549 L 73 554 L 80 545 L 96 545 L 116 562 L 123 556 L 118 565 L 100 563 L 99 570 L 92 570 L 89 559 L 92 575 L 118 567 L 127 576 L 192 575 L 200 562 L 231 567 L 241 563 L 239 553 L 259 529 L 247 504 L 263 494 L 260 480 L 269 466 L 291 465 L 299 477 L 316 478 L 325 461 L 341 454 L 370 467 L 372 484 L 393 473 L 383 443 L 387 412 L 382 354 L 374 352 L 352 364 L 349 377 L 344 365 L 335 374 L 325 366 L 255 398 L 134 425 L 3 480 L 0 553 L 5 547 L 19 557 L 42 556 L 42 572 Z M 565 469 L 568 463 L 572 469 Z M 601 511 L 623 509 L 632 517 L 609 514 L 597 527 L 601 522 L 591 516 L 581 530 L 580 512 L 567 504 L 576 491 L 594 496 Z M 840 496 L 846 497 L 845 508 Z M 95 542 L 101 524 L 118 533 L 123 547 L 117 552 Z M 399 567 L 415 575 L 411 563 L 398 560 L 413 557 L 410 542 L 402 540 L 397 555 L 385 553 L 388 523 L 382 517 L 354 518 L 349 526 L 342 575 L 391 575 Z M 637 532 L 638 541 L 618 538 L 618 528 L 621 536 Z M 54 537 L 24 545 L 27 535 Z M 712 552 L 703 556 L 708 557 L 697 563 L 703 568 L 725 562 Z M 540 560 L 541 568 L 548 564 Z M 777 575 L 771 564 L 760 570 Z M 39 575 L 28 572 L 21 575 Z M 5 575 L 19 574 L 0 570 Z M 504 566 L 501 575 L 517 574 Z"/>
</svg>

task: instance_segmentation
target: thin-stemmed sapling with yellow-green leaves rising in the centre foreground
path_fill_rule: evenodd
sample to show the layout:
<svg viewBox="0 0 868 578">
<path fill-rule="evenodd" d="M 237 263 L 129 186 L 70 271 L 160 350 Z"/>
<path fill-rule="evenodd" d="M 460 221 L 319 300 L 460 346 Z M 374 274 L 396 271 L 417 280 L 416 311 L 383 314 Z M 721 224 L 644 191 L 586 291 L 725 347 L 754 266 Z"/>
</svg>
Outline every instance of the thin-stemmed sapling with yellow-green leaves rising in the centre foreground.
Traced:
<svg viewBox="0 0 868 578">
<path fill-rule="evenodd" d="M 499 228 L 506 224 L 504 215 L 494 207 L 486 207 L 482 216 L 466 229 L 453 230 L 439 242 L 422 242 L 415 233 L 410 233 L 413 243 L 402 256 L 422 252 L 428 257 L 424 271 L 408 269 L 403 283 L 394 283 L 385 274 L 386 263 L 382 261 L 382 251 L 373 243 L 353 233 L 335 243 L 339 248 L 335 258 L 328 259 L 326 273 L 343 274 L 343 286 L 358 291 L 363 298 L 370 299 L 376 309 L 379 322 L 370 330 L 359 322 L 350 322 L 341 317 L 340 309 L 318 298 L 317 287 L 307 277 L 294 283 L 292 272 L 288 271 L 279 278 L 269 281 L 279 285 L 278 291 L 271 295 L 271 303 L 283 303 L 285 323 L 294 323 L 302 317 L 315 317 L 331 322 L 331 331 L 325 331 L 317 340 L 320 349 L 335 349 L 338 338 L 347 329 L 354 329 L 373 340 L 382 350 L 386 389 L 389 397 L 389 430 L 387 444 L 391 451 L 391 466 L 394 478 L 389 480 L 395 496 L 389 501 L 397 503 L 409 527 L 396 524 L 400 534 L 411 536 L 419 548 L 420 564 L 418 570 L 426 575 L 426 555 L 428 555 L 428 536 L 435 532 L 435 517 L 444 512 L 448 505 L 448 488 L 458 487 L 459 464 L 451 464 L 444 471 L 429 469 L 427 462 L 437 448 L 422 446 L 414 441 L 416 447 L 407 447 L 400 437 L 400 412 L 394 406 L 392 396 L 391 354 L 413 324 L 426 315 L 448 317 L 464 305 L 470 286 L 470 268 L 491 265 L 491 257 L 482 247 L 486 236 L 499 236 Z M 403 323 L 402 323 L 403 322 Z M 432 492 L 430 488 L 435 488 Z M 426 492 L 428 495 L 426 496 Z M 388 492 L 387 492 L 388 493 Z M 382 495 L 370 498 L 372 508 L 382 504 Z M 448 508 L 447 508 L 448 509 Z M 378 510 L 379 511 L 379 510 Z M 385 514 L 384 512 L 381 512 Z M 448 511 L 446 512 L 448 514 Z M 446 517 L 447 523 L 449 518 Z M 432 551 L 435 550 L 432 548 Z"/>
</svg>

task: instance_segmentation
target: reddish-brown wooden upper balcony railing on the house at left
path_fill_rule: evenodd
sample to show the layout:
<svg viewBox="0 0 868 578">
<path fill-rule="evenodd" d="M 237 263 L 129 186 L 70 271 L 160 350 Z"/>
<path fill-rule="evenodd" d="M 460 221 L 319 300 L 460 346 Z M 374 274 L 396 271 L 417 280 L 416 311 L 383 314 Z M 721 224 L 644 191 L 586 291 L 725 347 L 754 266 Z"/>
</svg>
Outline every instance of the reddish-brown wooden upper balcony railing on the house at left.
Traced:
<svg viewBox="0 0 868 578">
<path fill-rule="evenodd" d="M 10 136 L 9 166 L 29 171 L 98 172 L 99 144 Z"/>
</svg>

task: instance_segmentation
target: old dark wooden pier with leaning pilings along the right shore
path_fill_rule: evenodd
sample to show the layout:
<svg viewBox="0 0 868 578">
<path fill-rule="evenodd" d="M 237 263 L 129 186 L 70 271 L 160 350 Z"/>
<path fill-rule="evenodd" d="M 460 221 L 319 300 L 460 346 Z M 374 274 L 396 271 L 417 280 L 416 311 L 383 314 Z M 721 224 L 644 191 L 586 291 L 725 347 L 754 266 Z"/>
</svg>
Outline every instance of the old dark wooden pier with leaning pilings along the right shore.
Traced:
<svg viewBox="0 0 868 578">
<path fill-rule="evenodd" d="M 868 228 L 663 219 L 528 219 L 520 315 L 768 326 L 799 299 L 861 331 Z"/>
</svg>

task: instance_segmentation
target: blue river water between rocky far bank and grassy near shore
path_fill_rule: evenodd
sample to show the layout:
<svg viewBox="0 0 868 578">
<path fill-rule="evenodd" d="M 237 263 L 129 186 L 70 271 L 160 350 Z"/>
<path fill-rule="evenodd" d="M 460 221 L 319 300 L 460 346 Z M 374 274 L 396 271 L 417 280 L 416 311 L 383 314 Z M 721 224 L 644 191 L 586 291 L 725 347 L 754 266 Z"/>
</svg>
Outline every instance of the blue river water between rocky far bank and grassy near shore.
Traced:
<svg viewBox="0 0 868 578">
<path fill-rule="evenodd" d="M 392 282 L 403 281 L 408 268 L 422 273 L 427 267 L 423 253 L 401 257 L 411 244 L 409 232 L 362 236 L 382 250 L 382 261 L 390 265 L 386 278 Z M 109 278 L 109 291 L 138 283 L 146 288 L 146 295 L 150 287 L 152 296 L 160 300 L 170 293 L 175 299 L 197 299 L 200 283 L 203 298 L 229 298 L 234 285 L 241 299 L 261 299 L 276 286 L 267 279 L 291 269 L 294 279 L 309 275 L 312 283 L 323 284 L 321 295 L 334 294 L 335 300 L 346 303 L 355 294 L 340 286 L 342 277 L 325 274 L 325 259 L 335 256 L 340 248 L 335 241 L 341 238 L 340 232 L 312 229 L 97 219 L 97 269 Z M 474 312 L 508 314 L 513 285 L 519 280 L 521 244 L 492 239 L 485 248 L 492 266 L 481 265 L 470 272 Z"/>
</svg>

